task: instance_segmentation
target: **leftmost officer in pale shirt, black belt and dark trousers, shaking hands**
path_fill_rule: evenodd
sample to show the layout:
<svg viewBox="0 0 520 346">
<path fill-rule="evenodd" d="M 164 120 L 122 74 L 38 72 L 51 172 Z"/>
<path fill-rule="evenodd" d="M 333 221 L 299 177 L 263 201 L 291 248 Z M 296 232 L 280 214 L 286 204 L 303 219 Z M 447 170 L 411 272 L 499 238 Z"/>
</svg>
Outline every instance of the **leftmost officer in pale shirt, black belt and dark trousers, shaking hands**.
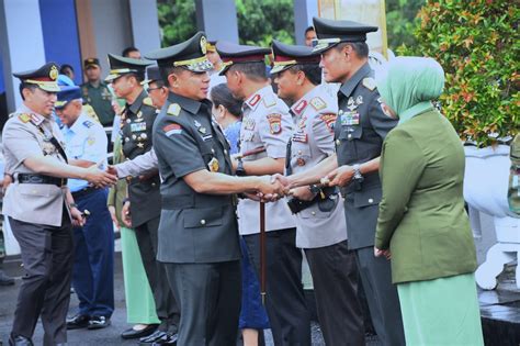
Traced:
<svg viewBox="0 0 520 346">
<path fill-rule="evenodd" d="M 5 172 L 12 176 L 3 199 L 3 212 L 20 244 L 25 276 L 14 312 L 10 345 L 33 345 L 34 328 L 42 317 L 44 345 L 67 343 L 66 314 L 72 269 L 71 221 L 83 224 L 66 178 L 95 186 L 116 177 L 95 165 L 67 165 L 61 133 L 52 113 L 56 102 L 58 66 L 14 74 L 20 78 L 23 104 L 2 133 Z"/>
</svg>

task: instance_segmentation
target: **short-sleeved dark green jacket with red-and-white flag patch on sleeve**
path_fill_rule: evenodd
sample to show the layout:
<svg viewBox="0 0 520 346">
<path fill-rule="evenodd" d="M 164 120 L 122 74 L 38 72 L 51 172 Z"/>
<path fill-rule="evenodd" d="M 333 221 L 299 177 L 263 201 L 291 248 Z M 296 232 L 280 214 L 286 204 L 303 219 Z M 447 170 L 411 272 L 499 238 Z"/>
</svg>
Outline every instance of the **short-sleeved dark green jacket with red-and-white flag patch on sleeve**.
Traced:
<svg viewBox="0 0 520 346">
<path fill-rule="evenodd" d="M 202 169 L 231 175 L 229 144 L 212 121 L 212 104 L 170 92 L 154 124 L 162 211 L 157 258 L 221 263 L 240 258 L 235 198 L 193 190 L 183 177 Z"/>
</svg>

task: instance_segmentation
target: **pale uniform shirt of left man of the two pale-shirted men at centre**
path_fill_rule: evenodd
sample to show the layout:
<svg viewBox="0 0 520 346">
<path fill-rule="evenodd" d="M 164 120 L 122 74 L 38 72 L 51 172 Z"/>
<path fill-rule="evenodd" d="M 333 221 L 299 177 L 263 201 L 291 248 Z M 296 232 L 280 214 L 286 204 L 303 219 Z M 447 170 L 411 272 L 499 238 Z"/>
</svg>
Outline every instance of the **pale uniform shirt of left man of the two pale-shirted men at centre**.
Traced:
<svg viewBox="0 0 520 346">
<path fill-rule="evenodd" d="M 244 161 L 263 157 L 285 157 L 285 148 L 293 131 L 293 121 L 287 105 L 267 86 L 253 93 L 244 103 L 244 119 L 240 129 L 240 153 L 260 147 L 265 152 L 249 155 Z M 247 170 L 246 170 L 247 174 Z M 265 204 L 265 231 L 295 227 L 295 219 L 283 200 Z M 240 234 L 260 233 L 260 203 L 242 199 L 238 203 Z"/>
</svg>

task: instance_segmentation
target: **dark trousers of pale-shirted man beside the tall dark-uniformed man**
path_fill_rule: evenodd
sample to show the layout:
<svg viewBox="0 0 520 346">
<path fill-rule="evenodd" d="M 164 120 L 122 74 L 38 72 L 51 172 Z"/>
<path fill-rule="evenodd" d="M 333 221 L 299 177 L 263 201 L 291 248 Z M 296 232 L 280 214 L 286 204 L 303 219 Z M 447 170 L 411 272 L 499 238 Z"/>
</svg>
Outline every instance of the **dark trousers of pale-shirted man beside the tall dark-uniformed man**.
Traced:
<svg viewBox="0 0 520 346">
<path fill-rule="evenodd" d="M 364 345 L 363 313 L 358 300 L 358 264 L 347 241 L 306 248 L 319 326 L 328 346 Z"/>
</svg>

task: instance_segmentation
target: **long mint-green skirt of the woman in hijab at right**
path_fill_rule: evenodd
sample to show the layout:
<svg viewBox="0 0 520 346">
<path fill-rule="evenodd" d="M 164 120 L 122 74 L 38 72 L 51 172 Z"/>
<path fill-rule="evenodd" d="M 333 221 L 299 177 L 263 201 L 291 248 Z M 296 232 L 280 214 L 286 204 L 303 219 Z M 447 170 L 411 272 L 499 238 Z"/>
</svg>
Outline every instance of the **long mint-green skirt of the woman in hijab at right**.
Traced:
<svg viewBox="0 0 520 346">
<path fill-rule="evenodd" d="M 406 345 L 484 345 L 473 274 L 398 283 Z"/>
</svg>

